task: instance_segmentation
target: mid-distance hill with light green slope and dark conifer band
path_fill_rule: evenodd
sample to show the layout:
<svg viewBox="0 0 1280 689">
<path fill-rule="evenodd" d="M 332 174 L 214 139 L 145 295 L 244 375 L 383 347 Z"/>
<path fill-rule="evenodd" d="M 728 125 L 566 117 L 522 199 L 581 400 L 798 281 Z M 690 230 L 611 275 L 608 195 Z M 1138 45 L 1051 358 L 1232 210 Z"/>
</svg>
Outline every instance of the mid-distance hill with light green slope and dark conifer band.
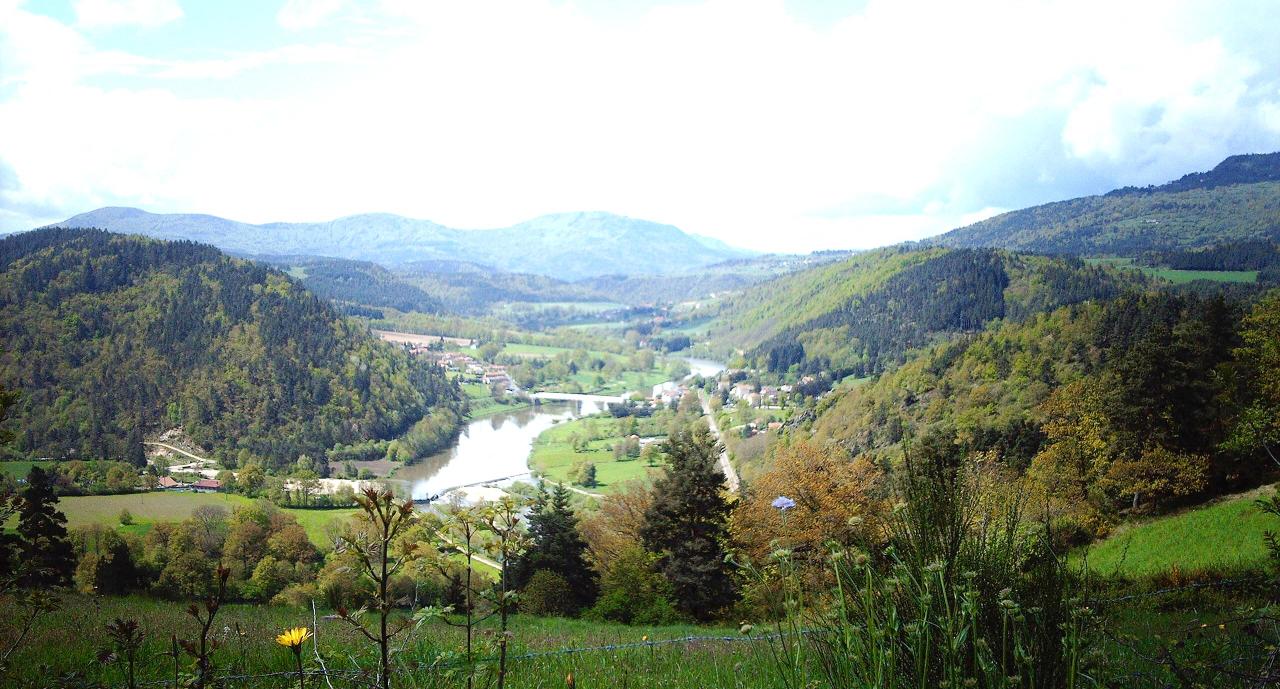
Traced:
<svg viewBox="0 0 1280 689">
<path fill-rule="evenodd" d="M 753 287 L 728 301 L 710 334 L 762 369 L 869 375 L 936 338 L 1140 284 L 1079 259 L 893 247 Z"/>
</svg>

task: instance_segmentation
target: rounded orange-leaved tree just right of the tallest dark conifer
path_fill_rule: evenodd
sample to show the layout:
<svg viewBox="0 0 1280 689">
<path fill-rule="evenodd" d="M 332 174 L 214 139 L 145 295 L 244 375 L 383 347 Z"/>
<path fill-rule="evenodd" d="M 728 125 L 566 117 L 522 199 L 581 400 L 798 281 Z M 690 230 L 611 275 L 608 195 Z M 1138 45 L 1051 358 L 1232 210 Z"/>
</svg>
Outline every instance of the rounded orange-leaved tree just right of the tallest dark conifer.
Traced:
<svg viewBox="0 0 1280 689">
<path fill-rule="evenodd" d="M 774 543 L 801 558 L 820 558 L 828 542 L 873 544 L 882 537 L 881 479 L 874 465 L 835 448 L 809 442 L 781 448 L 772 469 L 733 508 L 733 540 L 756 562 Z M 774 508 L 780 496 L 795 501 L 795 507 Z"/>
</svg>

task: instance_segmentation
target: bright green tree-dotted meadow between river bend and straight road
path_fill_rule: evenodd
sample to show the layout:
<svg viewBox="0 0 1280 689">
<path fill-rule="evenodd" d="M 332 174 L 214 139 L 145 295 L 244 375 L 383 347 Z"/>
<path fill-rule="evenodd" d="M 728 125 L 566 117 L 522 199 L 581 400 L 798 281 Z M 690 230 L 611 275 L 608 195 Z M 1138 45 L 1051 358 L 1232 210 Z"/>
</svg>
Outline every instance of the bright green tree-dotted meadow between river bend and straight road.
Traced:
<svg viewBox="0 0 1280 689">
<path fill-rule="evenodd" d="M 573 483 L 576 465 L 594 462 L 599 485 L 586 489 L 593 493 L 612 493 L 627 482 L 653 480 L 660 475 L 660 466 L 648 466 L 644 460 L 614 461 L 609 446 L 623 442 L 622 435 L 588 441 L 582 452 L 575 452 L 570 446 L 570 437 L 575 433 L 584 438 L 589 437 L 591 424 L 598 429 L 605 429 L 613 423 L 613 419 L 588 417 L 557 424 L 534 441 L 529 465 L 552 480 Z"/>
</svg>

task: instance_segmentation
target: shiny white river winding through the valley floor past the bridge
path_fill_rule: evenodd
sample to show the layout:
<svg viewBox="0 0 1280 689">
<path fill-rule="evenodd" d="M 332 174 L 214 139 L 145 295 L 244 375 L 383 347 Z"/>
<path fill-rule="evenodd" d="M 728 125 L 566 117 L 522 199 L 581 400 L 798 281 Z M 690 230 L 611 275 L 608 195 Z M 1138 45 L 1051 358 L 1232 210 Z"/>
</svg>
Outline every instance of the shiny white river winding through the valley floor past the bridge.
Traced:
<svg viewBox="0 0 1280 689">
<path fill-rule="evenodd" d="M 689 359 L 698 375 L 716 375 L 724 365 L 707 359 Z M 543 402 L 518 411 L 468 421 L 449 450 L 425 457 L 396 471 L 413 499 L 422 499 L 461 485 L 509 483 L 529 478 L 529 453 L 534 441 L 552 425 L 604 411 L 602 401 Z"/>
</svg>

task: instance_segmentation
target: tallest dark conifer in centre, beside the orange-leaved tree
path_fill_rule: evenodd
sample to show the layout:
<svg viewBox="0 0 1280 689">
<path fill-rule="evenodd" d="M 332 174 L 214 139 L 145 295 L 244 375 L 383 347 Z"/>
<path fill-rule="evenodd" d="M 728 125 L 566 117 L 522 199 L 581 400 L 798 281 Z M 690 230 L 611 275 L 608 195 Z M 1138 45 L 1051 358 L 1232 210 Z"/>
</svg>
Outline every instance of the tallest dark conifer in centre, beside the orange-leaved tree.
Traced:
<svg viewBox="0 0 1280 689">
<path fill-rule="evenodd" d="M 717 464 L 718 447 L 707 426 L 681 428 L 667 441 L 669 466 L 654 485 L 654 502 L 641 529 L 644 547 L 657 553 L 676 607 L 708 620 L 736 598 L 724 562 L 730 506 Z"/>
</svg>

